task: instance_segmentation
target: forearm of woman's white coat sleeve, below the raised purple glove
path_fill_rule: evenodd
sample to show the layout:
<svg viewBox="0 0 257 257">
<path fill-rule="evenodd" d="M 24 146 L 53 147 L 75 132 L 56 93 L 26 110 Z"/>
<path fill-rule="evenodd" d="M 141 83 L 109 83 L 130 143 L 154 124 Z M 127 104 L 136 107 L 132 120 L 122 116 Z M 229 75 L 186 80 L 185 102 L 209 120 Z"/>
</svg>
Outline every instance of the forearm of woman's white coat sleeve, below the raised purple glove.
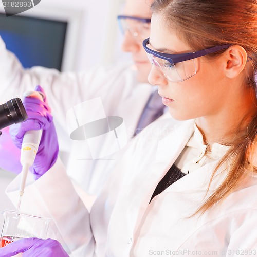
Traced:
<svg viewBox="0 0 257 257">
<path fill-rule="evenodd" d="M 21 211 L 50 217 L 48 237 L 57 239 L 70 256 L 94 256 L 95 240 L 90 228 L 89 213 L 76 193 L 62 162 L 36 181 L 27 179 Z M 17 206 L 20 176 L 8 186 L 6 192 Z"/>
</svg>

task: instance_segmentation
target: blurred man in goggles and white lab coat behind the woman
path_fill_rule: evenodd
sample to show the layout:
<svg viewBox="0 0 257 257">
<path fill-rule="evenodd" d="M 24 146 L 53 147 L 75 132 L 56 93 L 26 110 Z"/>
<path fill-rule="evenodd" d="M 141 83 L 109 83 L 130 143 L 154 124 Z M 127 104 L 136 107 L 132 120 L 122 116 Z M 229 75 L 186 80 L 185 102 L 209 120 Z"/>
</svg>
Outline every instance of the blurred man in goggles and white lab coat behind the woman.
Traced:
<svg viewBox="0 0 257 257">
<path fill-rule="evenodd" d="M 69 138 L 66 112 L 79 103 L 100 97 L 106 116 L 122 117 L 128 138 L 132 138 L 147 124 L 139 126 L 142 122 L 139 120 L 156 90 L 148 83 L 151 64 L 142 47 L 142 40 L 150 34 L 149 3 L 145 3 L 145 0 L 127 0 L 123 15 L 119 18 L 124 32 L 122 49 L 132 54 L 133 66 L 97 67 L 77 74 L 43 67 L 24 69 L 17 58 L 5 49 L 5 44 L 0 42 L 0 101 L 4 102 L 14 95 L 22 97 L 25 91 L 34 90 L 36 85 L 44 88 L 57 127 L 60 150 L 69 152 L 67 172 L 86 193 L 92 195 L 98 194 L 118 156 L 109 155 L 93 160 L 85 141 Z M 162 107 L 160 97 L 158 101 Z M 99 113 L 97 106 L 92 112 Z"/>
</svg>

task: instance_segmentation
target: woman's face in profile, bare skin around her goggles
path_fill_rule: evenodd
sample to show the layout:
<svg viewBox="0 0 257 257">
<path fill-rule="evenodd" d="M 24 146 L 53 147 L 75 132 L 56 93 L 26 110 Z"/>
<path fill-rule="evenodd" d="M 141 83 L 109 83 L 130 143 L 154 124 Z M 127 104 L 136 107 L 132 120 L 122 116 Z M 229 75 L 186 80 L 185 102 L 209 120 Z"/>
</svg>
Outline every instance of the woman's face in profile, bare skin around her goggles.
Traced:
<svg viewBox="0 0 257 257">
<path fill-rule="evenodd" d="M 175 30 L 167 28 L 157 14 L 152 16 L 150 47 L 164 53 L 192 52 L 190 46 L 177 37 Z M 194 63 L 196 74 L 182 82 L 163 78 L 154 65 L 149 74 L 149 82 L 159 86 L 163 104 L 177 120 L 218 115 L 228 104 L 230 93 L 226 91 L 229 88 L 225 87 L 227 80 L 222 72 L 224 63 L 221 58 L 200 57 L 194 59 Z"/>
</svg>

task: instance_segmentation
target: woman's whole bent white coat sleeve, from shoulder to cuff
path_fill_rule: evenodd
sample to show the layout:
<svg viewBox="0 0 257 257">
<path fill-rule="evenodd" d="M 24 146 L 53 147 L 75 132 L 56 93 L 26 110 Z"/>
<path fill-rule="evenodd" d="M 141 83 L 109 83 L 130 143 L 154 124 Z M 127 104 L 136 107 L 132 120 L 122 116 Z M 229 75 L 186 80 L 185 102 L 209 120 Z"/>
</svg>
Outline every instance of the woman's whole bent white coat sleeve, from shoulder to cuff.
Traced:
<svg viewBox="0 0 257 257">
<path fill-rule="evenodd" d="M 50 217 L 48 237 L 57 239 L 70 256 L 105 256 L 109 220 L 119 191 L 131 176 L 128 163 L 131 163 L 134 147 L 137 147 L 131 144 L 106 181 L 90 214 L 84 205 L 85 199 L 82 199 L 82 194 L 78 195 L 59 158 L 38 180 L 34 181 L 32 174 L 28 174 L 20 210 Z M 6 190 L 15 207 L 19 199 L 20 179 L 21 174 Z"/>
</svg>

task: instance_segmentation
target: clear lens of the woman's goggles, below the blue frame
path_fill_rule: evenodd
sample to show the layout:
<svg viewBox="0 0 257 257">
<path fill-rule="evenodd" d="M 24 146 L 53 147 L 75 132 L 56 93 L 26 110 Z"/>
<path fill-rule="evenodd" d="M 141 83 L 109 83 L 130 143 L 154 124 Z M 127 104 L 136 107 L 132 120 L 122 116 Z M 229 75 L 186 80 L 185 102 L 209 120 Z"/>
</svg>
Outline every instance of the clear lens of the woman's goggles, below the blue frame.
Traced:
<svg viewBox="0 0 257 257">
<path fill-rule="evenodd" d="M 150 62 L 155 65 L 159 74 L 171 82 L 181 82 L 196 74 L 194 59 L 172 64 L 167 60 L 147 53 Z"/>
</svg>

